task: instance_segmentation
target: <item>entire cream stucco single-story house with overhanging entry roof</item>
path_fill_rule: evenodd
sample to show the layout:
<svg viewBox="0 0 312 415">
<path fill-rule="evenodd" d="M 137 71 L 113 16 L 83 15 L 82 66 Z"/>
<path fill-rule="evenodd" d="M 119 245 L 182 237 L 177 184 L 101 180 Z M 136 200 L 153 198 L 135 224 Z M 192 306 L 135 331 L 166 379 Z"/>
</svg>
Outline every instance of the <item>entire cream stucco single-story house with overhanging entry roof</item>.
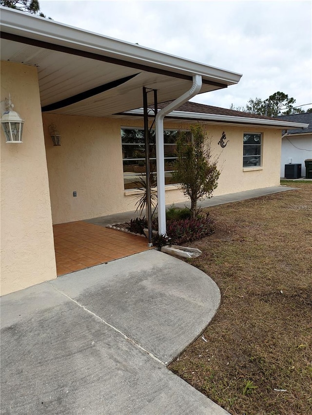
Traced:
<svg viewBox="0 0 312 415">
<path fill-rule="evenodd" d="M 169 112 L 164 133 L 162 112 L 156 120 L 160 210 L 185 200 L 171 183 L 175 132 L 198 121 L 219 157 L 216 195 L 277 186 L 281 130 L 305 124 L 185 103 L 240 77 L 1 8 L 1 116 L 10 94 L 24 119 L 23 143 L 7 144 L 1 129 L 1 294 L 56 278 L 53 224 L 134 209 L 132 182 L 144 171 L 143 87 Z"/>
</svg>

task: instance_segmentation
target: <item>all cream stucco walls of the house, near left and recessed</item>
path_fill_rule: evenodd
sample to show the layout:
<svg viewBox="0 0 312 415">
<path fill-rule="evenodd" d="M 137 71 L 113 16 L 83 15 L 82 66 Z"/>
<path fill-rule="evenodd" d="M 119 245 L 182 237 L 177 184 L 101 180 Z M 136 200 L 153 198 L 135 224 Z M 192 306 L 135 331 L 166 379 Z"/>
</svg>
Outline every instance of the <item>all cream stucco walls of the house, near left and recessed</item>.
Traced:
<svg viewBox="0 0 312 415">
<path fill-rule="evenodd" d="M 133 195 L 124 192 L 120 128 L 142 127 L 137 120 L 41 115 L 37 69 L 1 62 L 1 101 L 9 94 L 25 124 L 23 144 L 6 144 L 1 130 L 1 295 L 56 278 L 52 222 L 135 209 Z M 60 147 L 49 136 L 53 122 Z M 170 121 L 165 128 L 188 125 Z M 207 129 L 221 169 L 215 195 L 279 184 L 280 131 L 220 124 Z M 230 141 L 222 150 L 217 142 L 223 131 Z M 244 132 L 263 133 L 262 170 L 243 171 Z M 166 191 L 166 204 L 184 200 L 180 190 Z"/>
</svg>

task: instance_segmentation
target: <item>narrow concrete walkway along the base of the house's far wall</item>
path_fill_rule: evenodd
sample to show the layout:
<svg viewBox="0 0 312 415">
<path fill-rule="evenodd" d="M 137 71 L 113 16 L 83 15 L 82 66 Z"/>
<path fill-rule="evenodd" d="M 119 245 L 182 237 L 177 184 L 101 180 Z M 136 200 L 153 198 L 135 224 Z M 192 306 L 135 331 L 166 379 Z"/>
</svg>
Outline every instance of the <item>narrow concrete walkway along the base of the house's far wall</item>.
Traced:
<svg viewBox="0 0 312 415">
<path fill-rule="evenodd" d="M 224 205 L 225 203 L 233 203 L 239 202 L 240 200 L 252 199 L 254 197 L 265 196 L 267 194 L 279 193 L 282 191 L 293 190 L 295 188 L 290 188 L 286 186 L 273 186 L 269 188 L 263 189 L 254 189 L 254 190 L 246 190 L 240 191 L 236 193 L 229 193 L 224 194 L 221 196 L 214 196 L 211 199 L 204 199 L 199 202 L 200 207 L 210 207 L 210 206 L 217 206 L 217 205 Z M 190 207 L 190 202 L 180 202 L 175 203 L 175 207 Z M 167 207 L 170 207 L 168 205 Z M 123 212 L 123 213 L 115 213 L 113 215 L 107 216 L 100 216 L 98 218 L 87 219 L 85 222 L 92 223 L 95 225 L 100 226 L 107 226 L 112 225 L 114 223 L 124 223 L 130 221 L 130 219 L 136 218 L 138 213 L 135 211 Z"/>
</svg>

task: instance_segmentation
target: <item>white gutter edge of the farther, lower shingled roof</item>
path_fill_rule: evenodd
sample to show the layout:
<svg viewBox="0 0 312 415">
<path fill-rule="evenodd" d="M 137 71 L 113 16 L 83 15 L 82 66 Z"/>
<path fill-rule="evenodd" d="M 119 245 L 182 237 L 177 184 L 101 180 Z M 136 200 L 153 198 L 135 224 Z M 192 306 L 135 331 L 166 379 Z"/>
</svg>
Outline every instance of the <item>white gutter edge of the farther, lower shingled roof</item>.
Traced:
<svg viewBox="0 0 312 415">
<path fill-rule="evenodd" d="M 126 111 L 125 115 L 142 115 L 143 108 L 138 108 L 137 110 Z M 257 125 L 266 125 L 279 128 L 308 128 L 309 124 L 299 123 L 299 122 L 287 122 L 287 121 L 277 121 L 277 120 L 268 120 L 264 118 L 251 118 L 251 117 L 241 117 L 234 115 L 218 115 L 218 114 L 205 114 L 205 113 L 190 113 L 186 111 L 173 111 L 169 113 L 167 117 L 175 118 L 184 118 L 184 119 L 195 119 L 202 121 L 217 121 L 217 122 L 231 122 L 239 124 L 257 124 Z"/>
</svg>

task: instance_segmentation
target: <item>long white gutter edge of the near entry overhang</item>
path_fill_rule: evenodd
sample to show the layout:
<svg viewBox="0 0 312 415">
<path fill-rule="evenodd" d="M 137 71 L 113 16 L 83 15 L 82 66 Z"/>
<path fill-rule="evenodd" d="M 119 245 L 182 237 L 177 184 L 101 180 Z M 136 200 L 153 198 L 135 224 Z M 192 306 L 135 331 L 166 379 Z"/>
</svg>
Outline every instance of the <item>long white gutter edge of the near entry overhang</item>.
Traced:
<svg viewBox="0 0 312 415">
<path fill-rule="evenodd" d="M 13 35 L 67 46 L 73 49 L 115 57 L 184 75 L 202 75 L 203 79 L 233 85 L 241 74 L 176 57 L 140 45 L 99 35 L 73 26 L 40 18 L 18 10 L 0 7 L 1 30 Z"/>
</svg>

